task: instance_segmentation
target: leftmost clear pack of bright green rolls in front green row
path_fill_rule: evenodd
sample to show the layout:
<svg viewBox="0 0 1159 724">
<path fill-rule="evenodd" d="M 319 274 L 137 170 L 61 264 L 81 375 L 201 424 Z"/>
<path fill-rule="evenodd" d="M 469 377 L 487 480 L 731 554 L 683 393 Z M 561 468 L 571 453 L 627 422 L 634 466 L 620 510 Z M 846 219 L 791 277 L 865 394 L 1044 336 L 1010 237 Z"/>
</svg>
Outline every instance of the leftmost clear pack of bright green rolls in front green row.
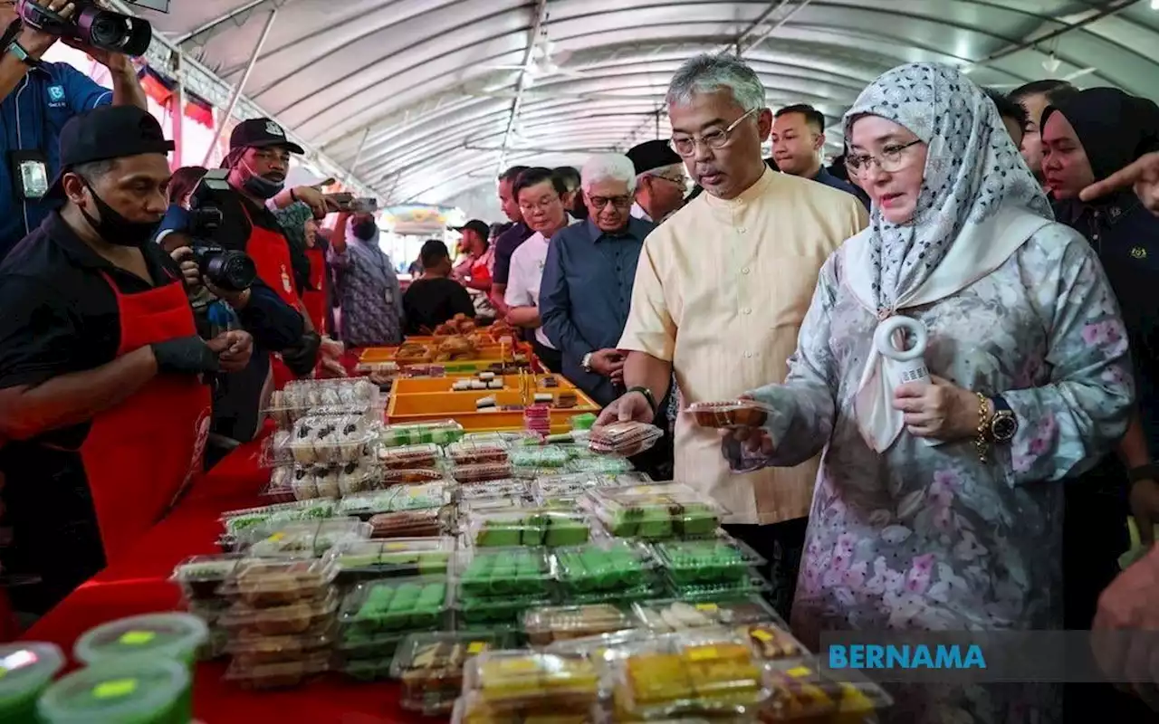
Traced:
<svg viewBox="0 0 1159 724">
<path fill-rule="evenodd" d="M 450 609 L 449 590 L 445 576 L 362 583 L 343 598 L 338 622 L 366 636 L 436 629 Z"/>
</svg>

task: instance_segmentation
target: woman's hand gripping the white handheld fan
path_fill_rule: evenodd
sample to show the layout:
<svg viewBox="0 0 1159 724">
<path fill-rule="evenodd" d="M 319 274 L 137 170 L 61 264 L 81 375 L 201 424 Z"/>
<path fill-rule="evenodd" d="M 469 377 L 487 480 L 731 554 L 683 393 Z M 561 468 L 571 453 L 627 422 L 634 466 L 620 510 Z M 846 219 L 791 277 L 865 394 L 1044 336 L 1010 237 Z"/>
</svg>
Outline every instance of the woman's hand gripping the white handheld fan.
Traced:
<svg viewBox="0 0 1159 724">
<path fill-rule="evenodd" d="M 894 409 L 905 414 L 905 429 L 919 438 L 962 440 L 978 433 L 978 396 L 939 376 L 930 375 L 928 385 L 898 385 Z"/>
</svg>

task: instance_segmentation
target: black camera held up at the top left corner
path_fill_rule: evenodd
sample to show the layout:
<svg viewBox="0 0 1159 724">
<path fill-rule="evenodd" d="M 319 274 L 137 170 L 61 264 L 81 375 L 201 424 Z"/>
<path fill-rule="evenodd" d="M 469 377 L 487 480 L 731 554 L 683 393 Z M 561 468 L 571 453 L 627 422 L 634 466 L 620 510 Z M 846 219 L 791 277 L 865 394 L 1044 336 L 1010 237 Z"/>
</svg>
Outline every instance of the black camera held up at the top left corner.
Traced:
<svg viewBox="0 0 1159 724">
<path fill-rule="evenodd" d="M 140 7 L 168 12 L 168 0 L 127 0 Z M 153 27 L 147 20 L 107 10 L 96 0 L 73 0 L 72 16 L 63 17 L 48 9 L 46 0 L 17 0 L 20 20 L 30 28 L 63 38 L 73 38 L 85 45 L 126 56 L 144 56 L 153 39 Z"/>
</svg>

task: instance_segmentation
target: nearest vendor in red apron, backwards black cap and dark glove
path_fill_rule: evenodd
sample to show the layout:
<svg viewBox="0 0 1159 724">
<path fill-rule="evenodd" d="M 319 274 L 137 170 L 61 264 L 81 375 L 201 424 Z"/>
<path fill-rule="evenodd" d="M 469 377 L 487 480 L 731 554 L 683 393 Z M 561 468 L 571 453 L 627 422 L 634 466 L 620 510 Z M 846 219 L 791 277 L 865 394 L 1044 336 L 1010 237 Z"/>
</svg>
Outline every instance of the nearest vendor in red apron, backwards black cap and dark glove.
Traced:
<svg viewBox="0 0 1159 724">
<path fill-rule="evenodd" d="M 246 332 L 196 335 L 182 271 L 152 243 L 170 151 L 136 107 L 70 120 L 50 190 L 64 206 L 0 265 L 0 561 L 20 612 L 166 514 L 201 463 L 206 375 L 249 361 Z"/>
</svg>

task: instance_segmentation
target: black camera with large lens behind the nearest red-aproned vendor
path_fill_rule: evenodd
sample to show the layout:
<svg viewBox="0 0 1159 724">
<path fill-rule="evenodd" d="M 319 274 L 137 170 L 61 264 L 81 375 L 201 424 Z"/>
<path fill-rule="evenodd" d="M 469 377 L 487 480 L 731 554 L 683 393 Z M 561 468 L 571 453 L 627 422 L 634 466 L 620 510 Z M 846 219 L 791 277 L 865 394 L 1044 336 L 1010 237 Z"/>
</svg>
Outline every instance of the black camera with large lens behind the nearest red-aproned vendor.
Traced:
<svg viewBox="0 0 1159 724">
<path fill-rule="evenodd" d="M 257 279 L 254 259 L 242 251 L 232 251 L 212 240 L 221 226 L 221 210 L 213 195 L 229 191 L 228 169 L 216 168 L 197 182 L 189 197 L 189 235 L 194 237 L 194 258 L 202 278 L 227 292 L 248 290 Z"/>
</svg>

